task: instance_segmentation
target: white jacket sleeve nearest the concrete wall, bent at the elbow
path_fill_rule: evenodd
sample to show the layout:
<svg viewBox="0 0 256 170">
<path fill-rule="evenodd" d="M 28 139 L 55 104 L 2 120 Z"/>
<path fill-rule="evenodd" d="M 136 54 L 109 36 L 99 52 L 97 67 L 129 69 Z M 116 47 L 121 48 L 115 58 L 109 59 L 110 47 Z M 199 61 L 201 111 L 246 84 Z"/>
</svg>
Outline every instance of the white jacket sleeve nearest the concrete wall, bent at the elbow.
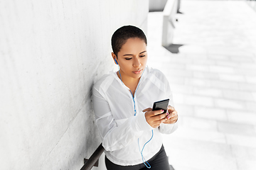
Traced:
<svg viewBox="0 0 256 170">
<path fill-rule="evenodd" d="M 151 130 L 143 112 L 137 116 L 122 120 L 114 120 L 109 103 L 97 89 L 92 89 L 92 103 L 95 111 L 95 123 L 102 137 L 102 146 L 107 151 L 122 149 L 137 140 L 144 130 Z"/>
</svg>

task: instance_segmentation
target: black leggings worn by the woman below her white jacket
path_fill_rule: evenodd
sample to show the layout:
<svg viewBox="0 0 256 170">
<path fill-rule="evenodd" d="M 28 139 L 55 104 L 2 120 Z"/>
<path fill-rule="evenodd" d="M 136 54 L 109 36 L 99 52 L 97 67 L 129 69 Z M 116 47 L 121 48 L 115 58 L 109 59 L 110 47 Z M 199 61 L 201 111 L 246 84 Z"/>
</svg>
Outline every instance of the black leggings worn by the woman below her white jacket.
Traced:
<svg viewBox="0 0 256 170">
<path fill-rule="evenodd" d="M 164 150 L 164 146 L 161 147 L 159 152 L 157 152 L 154 157 L 149 159 L 149 164 L 151 166 L 150 170 L 170 170 L 170 165 L 168 162 L 168 157 L 166 156 L 166 152 Z M 107 157 L 105 157 L 105 164 L 108 170 L 147 170 L 146 166 L 142 164 L 137 164 L 133 166 L 120 166 L 110 162 Z"/>
</svg>

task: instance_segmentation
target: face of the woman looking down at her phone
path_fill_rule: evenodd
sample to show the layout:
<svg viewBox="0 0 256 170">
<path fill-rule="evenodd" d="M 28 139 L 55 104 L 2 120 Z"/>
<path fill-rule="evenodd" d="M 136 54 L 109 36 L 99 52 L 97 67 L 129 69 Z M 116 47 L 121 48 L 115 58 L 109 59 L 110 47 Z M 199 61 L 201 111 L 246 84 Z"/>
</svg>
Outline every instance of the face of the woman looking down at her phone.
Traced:
<svg viewBox="0 0 256 170">
<path fill-rule="evenodd" d="M 122 45 L 117 56 L 116 60 L 120 67 L 122 79 L 139 79 L 142 76 L 147 61 L 146 43 L 144 40 L 129 38 Z"/>
</svg>

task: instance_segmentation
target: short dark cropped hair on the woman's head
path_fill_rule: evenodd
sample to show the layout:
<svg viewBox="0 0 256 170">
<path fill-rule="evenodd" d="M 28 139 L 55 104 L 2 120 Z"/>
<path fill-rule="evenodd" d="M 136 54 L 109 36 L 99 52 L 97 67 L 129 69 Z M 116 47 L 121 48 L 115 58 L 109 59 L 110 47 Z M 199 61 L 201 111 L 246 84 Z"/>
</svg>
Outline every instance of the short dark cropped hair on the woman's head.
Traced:
<svg viewBox="0 0 256 170">
<path fill-rule="evenodd" d="M 117 53 L 122 48 L 122 45 L 124 45 L 129 38 L 140 38 L 146 43 L 146 35 L 141 29 L 135 26 L 122 26 L 113 33 L 111 38 L 111 45 L 114 55 L 117 56 Z"/>
</svg>

